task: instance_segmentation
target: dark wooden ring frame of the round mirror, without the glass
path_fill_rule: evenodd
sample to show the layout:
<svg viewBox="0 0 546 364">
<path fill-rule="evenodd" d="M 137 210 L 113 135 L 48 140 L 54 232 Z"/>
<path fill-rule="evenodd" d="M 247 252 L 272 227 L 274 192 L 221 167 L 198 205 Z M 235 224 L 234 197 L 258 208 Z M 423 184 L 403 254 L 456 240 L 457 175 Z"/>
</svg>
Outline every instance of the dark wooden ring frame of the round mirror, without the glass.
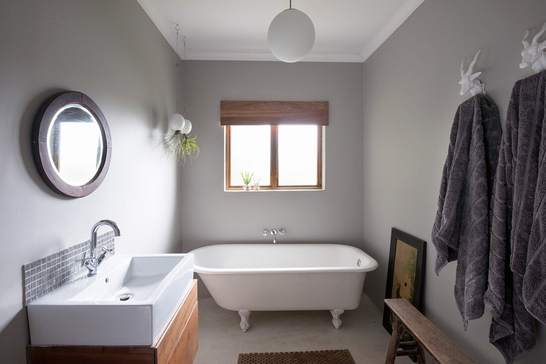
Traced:
<svg viewBox="0 0 546 364">
<path fill-rule="evenodd" d="M 104 153 L 100 166 L 93 179 L 83 186 L 72 186 L 66 183 L 57 174 L 55 167 L 49 160 L 49 126 L 54 121 L 53 118 L 57 111 L 68 104 L 79 104 L 87 108 L 97 120 L 103 136 Z M 106 173 L 108 173 L 112 154 L 110 128 L 108 127 L 108 123 L 106 123 L 104 114 L 89 96 L 76 91 L 60 92 L 45 100 L 36 113 L 32 129 L 32 151 L 40 177 L 52 190 L 66 197 L 84 197 L 96 190 L 106 177 Z"/>
</svg>

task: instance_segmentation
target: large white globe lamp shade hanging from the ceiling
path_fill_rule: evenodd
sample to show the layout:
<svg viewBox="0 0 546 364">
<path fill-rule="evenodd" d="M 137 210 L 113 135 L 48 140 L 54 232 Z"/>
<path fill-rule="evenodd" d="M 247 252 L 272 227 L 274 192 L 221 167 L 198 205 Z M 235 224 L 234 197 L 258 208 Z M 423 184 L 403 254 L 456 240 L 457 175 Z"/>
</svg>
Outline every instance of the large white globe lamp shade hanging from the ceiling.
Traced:
<svg viewBox="0 0 546 364">
<path fill-rule="evenodd" d="M 278 59 L 289 63 L 298 62 L 313 48 L 313 22 L 300 10 L 286 9 L 271 22 L 268 44 Z"/>
</svg>

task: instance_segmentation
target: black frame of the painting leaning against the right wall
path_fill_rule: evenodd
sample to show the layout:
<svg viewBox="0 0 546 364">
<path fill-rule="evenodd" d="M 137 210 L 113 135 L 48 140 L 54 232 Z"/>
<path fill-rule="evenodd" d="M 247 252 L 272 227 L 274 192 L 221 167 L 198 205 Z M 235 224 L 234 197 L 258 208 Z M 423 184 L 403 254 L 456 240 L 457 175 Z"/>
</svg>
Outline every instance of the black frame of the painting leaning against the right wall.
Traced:
<svg viewBox="0 0 546 364">
<path fill-rule="evenodd" d="M 390 234 L 389 266 L 387 270 L 387 287 L 385 288 L 385 299 L 393 298 L 396 250 L 399 241 L 417 249 L 414 288 L 412 300 L 410 301 L 410 303 L 413 305 L 413 307 L 417 308 L 417 310 L 422 312 L 423 286 L 425 278 L 426 241 L 419 239 L 416 236 L 405 233 L 402 230 L 394 227 L 391 229 Z M 390 308 L 387 307 L 387 305 L 383 304 L 383 327 L 385 327 L 389 334 L 392 335 L 393 327 L 390 323 L 390 314 Z"/>
</svg>

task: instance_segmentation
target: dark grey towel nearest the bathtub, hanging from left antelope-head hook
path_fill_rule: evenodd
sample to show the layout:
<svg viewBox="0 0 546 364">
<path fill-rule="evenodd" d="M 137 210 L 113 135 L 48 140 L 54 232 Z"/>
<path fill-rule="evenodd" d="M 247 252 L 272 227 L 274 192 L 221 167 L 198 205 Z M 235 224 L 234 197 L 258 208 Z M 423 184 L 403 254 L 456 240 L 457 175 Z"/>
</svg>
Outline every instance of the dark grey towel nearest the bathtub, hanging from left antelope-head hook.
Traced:
<svg viewBox="0 0 546 364">
<path fill-rule="evenodd" d="M 484 312 L 492 189 L 501 143 L 498 110 L 476 95 L 457 109 L 432 228 L 436 274 L 458 260 L 455 301 L 466 330 Z"/>
</svg>

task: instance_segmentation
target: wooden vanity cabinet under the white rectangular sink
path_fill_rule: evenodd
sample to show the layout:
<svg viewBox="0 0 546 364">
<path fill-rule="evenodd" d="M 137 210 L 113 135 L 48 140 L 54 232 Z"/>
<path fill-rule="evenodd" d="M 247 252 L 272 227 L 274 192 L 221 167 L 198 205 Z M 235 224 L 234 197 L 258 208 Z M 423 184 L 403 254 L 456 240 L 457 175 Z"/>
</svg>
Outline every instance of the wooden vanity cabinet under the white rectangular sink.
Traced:
<svg viewBox="0 0 546 364">
<path fill-rule="evenodd" d="M 28 345 L 28 364 L 192 364 L 198 347 L 197 280 L 151 347 Z"/>
</svg>

